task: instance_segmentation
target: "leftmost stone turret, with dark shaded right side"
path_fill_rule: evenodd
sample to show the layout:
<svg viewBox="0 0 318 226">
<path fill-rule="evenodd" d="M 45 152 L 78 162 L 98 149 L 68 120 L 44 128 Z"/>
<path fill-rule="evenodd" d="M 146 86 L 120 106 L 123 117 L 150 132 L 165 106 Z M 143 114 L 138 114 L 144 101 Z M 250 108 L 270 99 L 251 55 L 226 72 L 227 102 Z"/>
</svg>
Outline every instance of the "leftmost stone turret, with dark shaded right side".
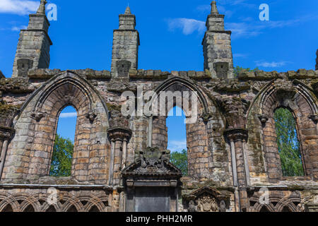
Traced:
<svg viewBox="0 0 318 226">
<path fill-rule="evenodd" d="M 45 4 L 47 1 L 41 0 L 37 13 L 29 16 L 28 28 L 20 31 L 12 77 L 28 76 L 30 69 L 49 68 L 52 41 L 48 35 L 49 20 L 45 16 Z"/>
</svg>

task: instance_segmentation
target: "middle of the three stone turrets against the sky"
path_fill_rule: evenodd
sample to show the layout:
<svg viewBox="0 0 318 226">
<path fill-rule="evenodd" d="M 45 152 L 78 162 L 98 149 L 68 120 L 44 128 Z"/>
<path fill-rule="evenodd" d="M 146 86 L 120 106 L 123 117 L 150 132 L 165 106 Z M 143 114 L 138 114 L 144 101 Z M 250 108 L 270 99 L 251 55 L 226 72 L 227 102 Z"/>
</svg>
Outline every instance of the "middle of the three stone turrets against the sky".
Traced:
<svg viewBox="0 0 318 226">
<path fill-rule="evenodd" d="M 114 30 L 112 77 L 128 77 L 129 69 L 138 69 L 139 32 L 136 17 L 129 6 L 119 15 L 119 29 Z"/>
</svg>

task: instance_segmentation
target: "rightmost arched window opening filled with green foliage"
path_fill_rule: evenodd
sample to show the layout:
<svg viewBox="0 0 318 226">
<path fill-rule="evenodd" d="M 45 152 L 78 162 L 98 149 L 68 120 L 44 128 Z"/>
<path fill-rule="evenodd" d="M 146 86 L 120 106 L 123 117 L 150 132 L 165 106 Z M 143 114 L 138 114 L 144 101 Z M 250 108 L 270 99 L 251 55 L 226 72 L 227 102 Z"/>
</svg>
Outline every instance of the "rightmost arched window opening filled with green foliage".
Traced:
<svg viewBox="0 0 318 226">
<path fill-rule="evenodd" d="M 293 114 L 288 109 L 278 108 L 275 111 L 274 120 L 283 176 L 303 176 L 300 142 Z"/>
</svg>

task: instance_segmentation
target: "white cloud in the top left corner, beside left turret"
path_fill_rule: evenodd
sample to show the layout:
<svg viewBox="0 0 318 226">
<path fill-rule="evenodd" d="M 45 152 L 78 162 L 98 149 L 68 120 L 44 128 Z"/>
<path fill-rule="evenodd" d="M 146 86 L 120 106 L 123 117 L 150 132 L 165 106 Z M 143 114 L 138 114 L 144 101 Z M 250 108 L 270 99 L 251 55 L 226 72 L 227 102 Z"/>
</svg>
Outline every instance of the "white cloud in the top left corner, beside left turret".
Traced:
<svg viewBox="0 0 318 226">
<path fill-rule="evenodd" d="M 0 13 L 28 15 L 37 11 L 40 1 L 0 0 Z"/>
</svg>

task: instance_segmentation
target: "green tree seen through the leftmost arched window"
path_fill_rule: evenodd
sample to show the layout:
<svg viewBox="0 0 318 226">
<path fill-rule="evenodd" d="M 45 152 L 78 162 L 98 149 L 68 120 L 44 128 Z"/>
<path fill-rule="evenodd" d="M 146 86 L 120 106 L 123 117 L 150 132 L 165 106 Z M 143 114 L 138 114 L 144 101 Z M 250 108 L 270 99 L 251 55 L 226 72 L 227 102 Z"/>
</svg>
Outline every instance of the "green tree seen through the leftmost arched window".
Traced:
<svg viewBox="0 0 318 226">
<path fill-rule="evenodd" d="M 64 139 L 57 134 L 54 142 L 51 168 L 49 176 L 69 177 L 71 176 L 71 166 L 73 159 L 74 145 L 71 140 Z"/>
</svg>

